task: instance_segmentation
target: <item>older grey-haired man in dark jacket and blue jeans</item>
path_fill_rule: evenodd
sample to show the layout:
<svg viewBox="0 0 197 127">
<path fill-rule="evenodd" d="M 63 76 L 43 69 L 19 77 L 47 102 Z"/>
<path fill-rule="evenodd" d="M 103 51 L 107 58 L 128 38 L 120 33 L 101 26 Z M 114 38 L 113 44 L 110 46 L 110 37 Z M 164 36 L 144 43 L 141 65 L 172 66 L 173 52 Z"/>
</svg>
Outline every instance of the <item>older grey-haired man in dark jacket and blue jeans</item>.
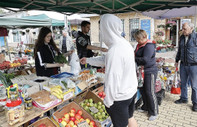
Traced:
<svg viewBox="0 0 197 127">
<path fill-rule="evenodd" d="M 193 111 L 197 111 L 197 33 L 194 32 L 192 23 L 184 23 L 183 35 L 179 40 L 179 48 L 176 55 L 176 67 L 180 62 L 181 96 L 176 104 L 187 103 L 187 79 L 190 77 L 192 87 Z"/>
</svg>

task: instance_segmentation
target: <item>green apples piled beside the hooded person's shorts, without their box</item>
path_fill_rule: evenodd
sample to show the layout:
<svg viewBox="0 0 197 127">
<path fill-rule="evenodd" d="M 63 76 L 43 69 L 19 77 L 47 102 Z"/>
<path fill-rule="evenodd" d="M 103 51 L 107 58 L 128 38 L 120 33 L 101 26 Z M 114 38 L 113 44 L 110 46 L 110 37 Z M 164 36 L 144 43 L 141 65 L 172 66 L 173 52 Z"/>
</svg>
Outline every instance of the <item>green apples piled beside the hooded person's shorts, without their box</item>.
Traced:
<svg viewBox="0 0 197 127">
<path fill-rule="evenodd" d="M 102 102 L 95 103 L 92 98 L 85 99 L 80 103 L 81 107 L 83 107 L 88 113 L 90 113 L 94 119 L 98 121 L 104 121 L 109 117 L 105 109 L 105 105 Z"/>
</svg>

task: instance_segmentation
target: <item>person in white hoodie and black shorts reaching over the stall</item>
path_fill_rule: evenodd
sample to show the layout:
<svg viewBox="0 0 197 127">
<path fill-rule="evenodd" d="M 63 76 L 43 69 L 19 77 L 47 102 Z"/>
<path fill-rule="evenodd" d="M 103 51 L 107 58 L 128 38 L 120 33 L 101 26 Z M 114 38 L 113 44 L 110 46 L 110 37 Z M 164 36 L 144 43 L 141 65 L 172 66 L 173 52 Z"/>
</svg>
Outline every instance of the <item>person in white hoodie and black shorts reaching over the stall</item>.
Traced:
<svg viewBox="0 0 197 127">
<path fill-rule="evenodd" d="M 80 62 L 105 66 L 104 104 L 114 127 L 137 127 L 133 117 L 138 85 L 134 50 L 121 33 L 121 20 L 112 14 L 103 15 L 100 34 L 108 52 L 101 57 L 82 58 Z"/>
</svg>

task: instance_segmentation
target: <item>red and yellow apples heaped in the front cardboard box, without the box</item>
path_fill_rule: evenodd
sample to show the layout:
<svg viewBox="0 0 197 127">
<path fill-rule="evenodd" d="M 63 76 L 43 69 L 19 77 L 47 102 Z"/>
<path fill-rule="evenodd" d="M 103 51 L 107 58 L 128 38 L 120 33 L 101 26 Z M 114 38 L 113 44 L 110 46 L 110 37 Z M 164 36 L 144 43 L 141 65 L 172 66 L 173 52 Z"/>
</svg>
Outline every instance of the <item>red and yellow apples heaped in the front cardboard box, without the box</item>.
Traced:
<svg viewBox="0 0 197 127">
<path fill-rule="evenodd" d="M 83 121 L 86 121 L 90 127 L 97 127 L 95 121 L 89 118 L 83 118 L 82 110 L 76 110 L 72 108 L 69 112 L 65 113 L 62 118 L 58 119 L 61 127 L 77 127 L 77 125 Z"/>
</svg>

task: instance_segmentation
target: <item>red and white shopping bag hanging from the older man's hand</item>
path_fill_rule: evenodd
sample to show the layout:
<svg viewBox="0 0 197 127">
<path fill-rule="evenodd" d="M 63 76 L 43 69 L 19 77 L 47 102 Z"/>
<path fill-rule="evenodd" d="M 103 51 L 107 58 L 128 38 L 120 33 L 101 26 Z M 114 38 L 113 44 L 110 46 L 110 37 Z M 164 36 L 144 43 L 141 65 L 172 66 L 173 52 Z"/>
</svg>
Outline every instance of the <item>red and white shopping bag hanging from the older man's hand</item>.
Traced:
<svg viewBox="0 0 197 127">
<path fill-rule="evenodd" d="M 174 81 L 173 81 L 173 85 L 171 87 L 171 94 L 180 94 L 181 93 L 181 83 L 180 81 L 178 81 L 178 73 L 177 70 L 175 71 L 175 76 L 174 76 Z"/>
</svg>

